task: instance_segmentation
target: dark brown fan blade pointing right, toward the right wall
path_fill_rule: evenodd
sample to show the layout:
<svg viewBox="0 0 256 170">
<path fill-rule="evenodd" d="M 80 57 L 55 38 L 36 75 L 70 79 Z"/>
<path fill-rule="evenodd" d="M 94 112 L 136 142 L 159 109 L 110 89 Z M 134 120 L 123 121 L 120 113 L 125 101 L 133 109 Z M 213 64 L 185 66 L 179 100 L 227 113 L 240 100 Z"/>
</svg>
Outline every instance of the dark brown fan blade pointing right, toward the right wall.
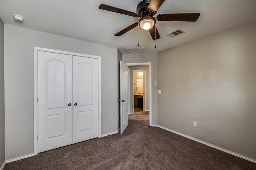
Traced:
<svg viewBox="0 0 256 170">
<path fill-rule="evenodd" d="M 156 19 L 158 21 L 196 21 L 200 13 L 185 13 L 185 14 L 159 14 Z"/>
</svg>

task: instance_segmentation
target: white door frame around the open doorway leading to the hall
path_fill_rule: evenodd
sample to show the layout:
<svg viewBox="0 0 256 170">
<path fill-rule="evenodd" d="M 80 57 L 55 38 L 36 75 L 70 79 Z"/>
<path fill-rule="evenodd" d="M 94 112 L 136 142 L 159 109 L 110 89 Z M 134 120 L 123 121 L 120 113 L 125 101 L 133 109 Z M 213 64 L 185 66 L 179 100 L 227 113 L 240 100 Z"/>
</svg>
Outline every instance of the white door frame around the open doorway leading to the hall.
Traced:
<svg viewBox="0 0 256 170">
<path fill-rule="evenodd" d="M 142 65 L 149 66 L 149 125 L 152 126 L 152 63 L 148 62 L 148 63 L 126 63 L 126 64 L 128 66 L 142 66 Z"/>
</svg>

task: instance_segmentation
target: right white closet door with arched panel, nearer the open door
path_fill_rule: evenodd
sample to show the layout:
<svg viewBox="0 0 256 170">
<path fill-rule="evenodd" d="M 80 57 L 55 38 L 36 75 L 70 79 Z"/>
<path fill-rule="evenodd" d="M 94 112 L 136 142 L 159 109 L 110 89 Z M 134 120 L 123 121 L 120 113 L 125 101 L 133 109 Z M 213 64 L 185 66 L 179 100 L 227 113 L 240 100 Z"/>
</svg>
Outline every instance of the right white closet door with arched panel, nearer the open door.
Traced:
<svg viewBox="0 0 256 170">
<path fill-rule="evenodd" d="M 98 137 L 98 59 L 73 56 L 73 143 Z"/>
</svg>

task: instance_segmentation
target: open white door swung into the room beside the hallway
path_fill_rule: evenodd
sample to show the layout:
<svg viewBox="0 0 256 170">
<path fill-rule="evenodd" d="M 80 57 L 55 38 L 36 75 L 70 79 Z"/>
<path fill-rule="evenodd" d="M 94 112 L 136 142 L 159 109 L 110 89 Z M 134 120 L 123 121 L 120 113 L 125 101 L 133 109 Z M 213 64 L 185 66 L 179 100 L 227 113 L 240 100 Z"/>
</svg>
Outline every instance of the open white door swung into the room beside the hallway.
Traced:
<svg viewBox="0 0 256 170">
<path fill-rule="evenodd" d="M 129 71 L 128 65 L 120 61 L 120 133 L 128 126 Z"/>
</svg>

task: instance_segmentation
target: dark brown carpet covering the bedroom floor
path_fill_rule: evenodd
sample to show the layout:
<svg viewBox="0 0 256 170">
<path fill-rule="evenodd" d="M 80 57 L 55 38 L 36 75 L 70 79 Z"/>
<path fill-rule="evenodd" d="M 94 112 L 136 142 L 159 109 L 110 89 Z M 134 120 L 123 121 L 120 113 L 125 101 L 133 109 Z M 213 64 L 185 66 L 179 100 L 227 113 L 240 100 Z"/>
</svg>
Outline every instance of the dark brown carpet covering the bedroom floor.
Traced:
<svg viewBox="0 0 256 170">
<path fill-rule="evenodd" d="M 124 133 L 42 152 L 4 170 L 256 170 L 256 164 L 129 115 Z"/>
</svg>

